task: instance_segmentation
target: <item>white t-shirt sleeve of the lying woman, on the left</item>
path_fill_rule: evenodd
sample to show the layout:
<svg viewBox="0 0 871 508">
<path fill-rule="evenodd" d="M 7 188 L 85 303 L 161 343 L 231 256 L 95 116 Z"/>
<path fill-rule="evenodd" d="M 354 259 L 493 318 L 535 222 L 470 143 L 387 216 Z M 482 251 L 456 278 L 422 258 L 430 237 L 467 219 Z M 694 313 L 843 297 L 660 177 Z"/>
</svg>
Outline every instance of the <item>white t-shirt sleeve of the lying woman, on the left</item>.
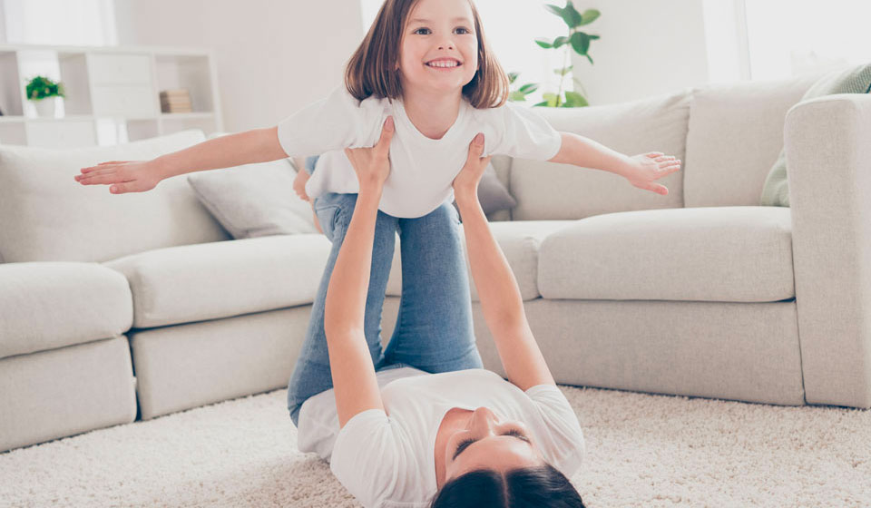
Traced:
<svg viewBox="0 0 871 508">
<path fill-rule="evenodd" d="M 338 432 L 329 469 L 368 508 L 386 503 L 409 466 L 403 463 L 390 418 L 381 409 L 367 409 Z"/>
</svg>

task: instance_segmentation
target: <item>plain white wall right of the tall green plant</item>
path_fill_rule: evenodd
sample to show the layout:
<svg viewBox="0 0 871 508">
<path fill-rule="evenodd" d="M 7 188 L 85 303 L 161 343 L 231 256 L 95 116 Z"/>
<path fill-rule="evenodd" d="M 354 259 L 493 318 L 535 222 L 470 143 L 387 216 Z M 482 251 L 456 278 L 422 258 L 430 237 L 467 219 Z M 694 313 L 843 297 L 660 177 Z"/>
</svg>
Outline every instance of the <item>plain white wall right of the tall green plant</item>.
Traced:
<svg viewBox="0 0 871 508">
<path fill-rule="evenodd" d="M 725 1 L 725 0 L 724 0 Z M 677 92 L 709 81 L 700 0 L 575 0 L 602 16 L 584 27 L 595 64 L 573 53 L 574 75 L 592 105 Z"/>
</svg>

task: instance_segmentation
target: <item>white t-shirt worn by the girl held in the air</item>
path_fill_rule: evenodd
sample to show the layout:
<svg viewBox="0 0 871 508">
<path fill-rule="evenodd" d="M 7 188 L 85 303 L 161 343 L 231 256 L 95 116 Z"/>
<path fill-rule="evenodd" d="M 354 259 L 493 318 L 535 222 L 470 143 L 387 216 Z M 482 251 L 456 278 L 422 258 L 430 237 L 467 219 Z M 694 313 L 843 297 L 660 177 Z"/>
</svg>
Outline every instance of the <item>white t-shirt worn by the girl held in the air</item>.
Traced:
<svg viewBox="0 0 871 508">
<path fill-rule="evenodd" d="M 328 171 L 315 171 L 306 183 L 309 198 L 324 192 L 359 191 L 345 148 L 374 146 L 392 115 L 396 132 L 390 142 L 390 175 L 379 210 L 413 219 L 454 200 L 451 182 L 463 169 L 469 143 L 484 132 L 484 153 L 547 161 L 563 144 L 559 132 L 537 112 L 514 103 L 476 109 L 465 97 L 451 128 L 439 140 L 427 138 L 408 119 L 402 101 L 367 97 L 357 101 L 344 86 L 278 124 L 279 143 L 290 157 L 321 155 Z M 319 161 L 318 161 L 319 167 Z"/>
</svg>

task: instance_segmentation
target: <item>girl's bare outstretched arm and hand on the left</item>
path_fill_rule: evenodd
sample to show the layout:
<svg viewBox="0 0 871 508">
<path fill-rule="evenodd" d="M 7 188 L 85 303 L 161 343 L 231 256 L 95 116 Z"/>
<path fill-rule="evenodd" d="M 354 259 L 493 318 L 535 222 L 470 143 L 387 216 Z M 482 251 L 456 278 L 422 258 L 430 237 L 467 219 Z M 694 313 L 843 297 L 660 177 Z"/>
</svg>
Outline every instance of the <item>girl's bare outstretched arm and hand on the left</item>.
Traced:
<svg viewBox="0 0 871 508">
<path fill-rule="evenodd" d="M 82 168 L 75 181 L 111 185 L 113 194 L 152 190 L 161 180 L 193 171 L 275 161 L 288 154 L 279 144 L 278 127 L 220 136 L 151 161 L 108 161 Z"/>
</svg>

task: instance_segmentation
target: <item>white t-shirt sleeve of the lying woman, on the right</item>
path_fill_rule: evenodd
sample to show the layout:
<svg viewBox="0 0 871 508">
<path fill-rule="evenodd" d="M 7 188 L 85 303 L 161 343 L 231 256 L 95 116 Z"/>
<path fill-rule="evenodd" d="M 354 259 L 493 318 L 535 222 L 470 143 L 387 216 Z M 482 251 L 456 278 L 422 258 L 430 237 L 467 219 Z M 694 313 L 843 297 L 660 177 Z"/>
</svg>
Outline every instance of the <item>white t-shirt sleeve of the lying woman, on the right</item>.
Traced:
<svg viewBox="0 0 871 508">
<path fill-rule="evenodd" d="M 547 425 L 548 443 L 540 443 L 551 464 L 568 478 L 581 469 L 585 445 L 574 409 L 555 385 L 537 385 L 526 390 Z"/>
</svg>

